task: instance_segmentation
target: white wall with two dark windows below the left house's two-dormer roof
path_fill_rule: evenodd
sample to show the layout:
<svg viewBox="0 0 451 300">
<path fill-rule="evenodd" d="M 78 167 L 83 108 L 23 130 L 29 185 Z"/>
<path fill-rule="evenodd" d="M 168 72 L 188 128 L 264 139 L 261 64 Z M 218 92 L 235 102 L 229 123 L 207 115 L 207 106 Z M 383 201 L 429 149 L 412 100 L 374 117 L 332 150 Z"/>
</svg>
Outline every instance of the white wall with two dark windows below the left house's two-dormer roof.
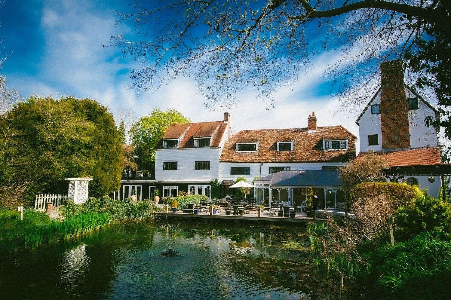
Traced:
<svg viewBox="0 0 451 300">
<path fill-rule="evenodd" d="M 219 148 L 156 150 L 155 179 L 161 181 L 210 181 L 218 178 Z M 210 170 L 194 170 L 195 161 L 210 161 Z M 163 170 L 163 162 L 177 162 L 178 170 Z"/>
</svg>

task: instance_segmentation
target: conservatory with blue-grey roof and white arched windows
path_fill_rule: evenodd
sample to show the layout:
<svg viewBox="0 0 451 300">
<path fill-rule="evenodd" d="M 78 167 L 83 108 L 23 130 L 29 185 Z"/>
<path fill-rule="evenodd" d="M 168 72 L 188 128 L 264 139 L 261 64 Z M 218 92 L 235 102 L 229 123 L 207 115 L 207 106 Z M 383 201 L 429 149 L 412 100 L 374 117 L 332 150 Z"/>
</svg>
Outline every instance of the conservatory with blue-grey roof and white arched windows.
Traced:
<svg viewBox="0 0 451 300">
<path fill-rule="evenodd" d="M 339 202 L 345 202 L 339 171 L 280 171 L 254 183 L 255 198 L 267 205 L 277 201 L 296 208 L 307 200 L 309 188 L 313 189 L 317 209 L 337 208 Z"/>
</svg>

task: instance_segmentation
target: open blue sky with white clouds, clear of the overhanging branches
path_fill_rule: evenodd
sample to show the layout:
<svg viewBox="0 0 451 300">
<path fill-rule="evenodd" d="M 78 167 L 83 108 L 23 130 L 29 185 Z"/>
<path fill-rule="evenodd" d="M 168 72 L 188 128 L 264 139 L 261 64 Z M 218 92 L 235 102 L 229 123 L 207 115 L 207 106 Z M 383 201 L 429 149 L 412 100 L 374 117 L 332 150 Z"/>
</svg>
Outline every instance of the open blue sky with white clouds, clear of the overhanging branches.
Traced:
<svg viewBox="0 0 451 300">
<path fill-rule="evenodd" d="M 274 93 L 276 107 L 269 109 L 250 88 L 240 94 L 234 107 L 205 109 L 205 98 L 196 93 L 196 83 L 188 77 L 137 95 L 129 89 L 129 70 L 136 62 L 122 58 L 119 48 L 103 46 L 110 36 L 131 32 L 114 18 L 115 11 L 126 5 L 121 0 L 5 0 L 0 9 L 0 37 L 4 37 L 0 49 L 9 58 L 0 75 L 6 76 L 8 88 L 17 89 L 23 98 L 96 99 L 109 107 L 116 122 L 124 119 L 129 124 L 154 108 L 176 109 L 193 122 L 222 120 L 228 111 L 235 134 L 241 129 L 307 127 L 307 117 L 315 111 L 318 126 L 343 125 L 359 136 L 355 120 L 360 111 L 337 113 L 340 102 L 328 95 L 329 83 L 323 77 L 339 50 L 313 57 L 310 68 L 298 74 L 299 83 Z"/>
</svg>

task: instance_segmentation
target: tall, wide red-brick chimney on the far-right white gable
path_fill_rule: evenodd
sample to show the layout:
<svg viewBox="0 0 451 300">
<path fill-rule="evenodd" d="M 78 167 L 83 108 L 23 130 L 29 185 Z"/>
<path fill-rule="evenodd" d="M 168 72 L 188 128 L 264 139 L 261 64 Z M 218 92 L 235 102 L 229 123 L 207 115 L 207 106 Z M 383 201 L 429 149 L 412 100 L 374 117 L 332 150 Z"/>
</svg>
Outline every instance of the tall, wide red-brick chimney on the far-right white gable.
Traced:
<svg viewBox="0 0 451 300">
<path fill-rule="evenodd" d="M 409 111 L 404 86 L 402 60 L 381 64 L 382 148 L 409 148 Z"/>
</svg>

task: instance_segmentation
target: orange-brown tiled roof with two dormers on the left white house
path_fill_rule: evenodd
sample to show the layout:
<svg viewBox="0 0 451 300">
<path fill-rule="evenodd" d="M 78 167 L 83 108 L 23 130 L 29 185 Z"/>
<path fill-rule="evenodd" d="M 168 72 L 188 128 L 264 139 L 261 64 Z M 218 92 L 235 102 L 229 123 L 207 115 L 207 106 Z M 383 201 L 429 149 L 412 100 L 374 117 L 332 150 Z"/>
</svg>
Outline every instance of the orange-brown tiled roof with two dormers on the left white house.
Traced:
<svg viewBox="0 0 451 300">
<path fill-rule="evenodd" d="M 171 124 L 162 139 L 180 138 L 186 131 L 182 140 L 179 141 L 179 148 L 191 148 L 194 144 L 193 138 L 201 137 L 212 137 L 210 147 L 218 147 L 226 128 L 227 123 L 224 121 Z M 161 141 L 157 148 L 162 148 Z"/>
</svg>

